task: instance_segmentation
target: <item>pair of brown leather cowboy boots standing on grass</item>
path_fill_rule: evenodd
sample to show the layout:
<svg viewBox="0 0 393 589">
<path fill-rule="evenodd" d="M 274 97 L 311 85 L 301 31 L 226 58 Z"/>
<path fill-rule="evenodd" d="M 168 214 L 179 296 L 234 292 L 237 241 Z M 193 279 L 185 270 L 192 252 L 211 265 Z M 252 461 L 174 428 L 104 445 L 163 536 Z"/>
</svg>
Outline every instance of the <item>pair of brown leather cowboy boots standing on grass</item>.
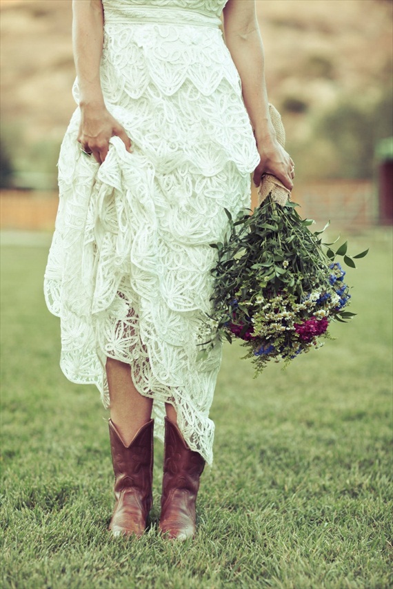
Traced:
<svg viewBox="0 0 393 589">
<path fill-rule="evenodd" d="M 143 425 L 129 446 L 109 420 L 116 504 L 109 529 L 114 536 L 141 536 L 152 508 L 153 426 Z M 165 417 L 165 455 L 159 530 L 169 539 L 195 533 L 195 502 L 205 460 L 188 448 L 179 428 Z"/>
</svg>

